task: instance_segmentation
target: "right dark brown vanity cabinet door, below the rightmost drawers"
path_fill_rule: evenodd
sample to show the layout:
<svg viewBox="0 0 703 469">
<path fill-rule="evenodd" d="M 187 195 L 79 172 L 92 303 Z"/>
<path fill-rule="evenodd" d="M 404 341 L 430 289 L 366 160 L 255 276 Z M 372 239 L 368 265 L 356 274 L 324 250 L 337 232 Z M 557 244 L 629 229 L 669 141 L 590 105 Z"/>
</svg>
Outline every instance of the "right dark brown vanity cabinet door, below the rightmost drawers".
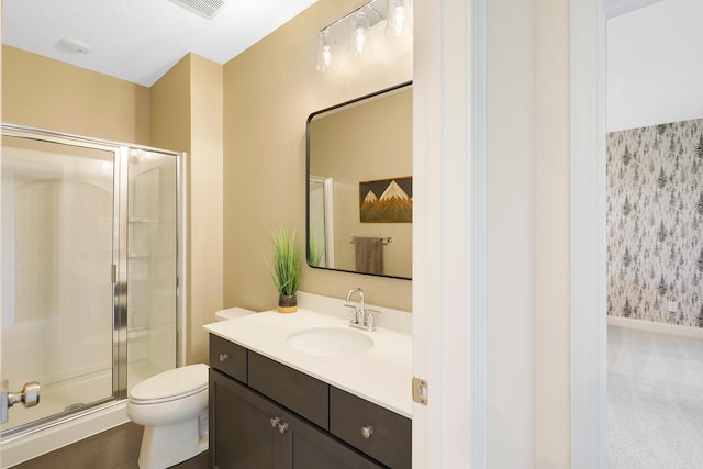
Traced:
<svg viewBox="0 0 703 469">
<path fill-rule="evenodd" d="M 378 469 L 386 466 L 368 459 L 349 446 L 330 436 L 326 432 L 289 414 L 290 443 L 286 457 L 290 469 Z"/>
</svg>

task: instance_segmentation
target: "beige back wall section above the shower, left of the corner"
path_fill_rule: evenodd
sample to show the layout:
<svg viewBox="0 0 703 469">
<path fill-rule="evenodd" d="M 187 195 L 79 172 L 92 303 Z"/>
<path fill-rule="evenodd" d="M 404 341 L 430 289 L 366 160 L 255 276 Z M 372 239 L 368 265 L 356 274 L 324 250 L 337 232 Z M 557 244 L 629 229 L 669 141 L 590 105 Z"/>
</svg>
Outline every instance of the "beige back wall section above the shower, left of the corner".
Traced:
<svg viewBox="0 0 703 469">
<path fill-rule="evenodd" d="M 149 89 L 2 46 L 3 122 L 149 143 Z"/>
</svg>

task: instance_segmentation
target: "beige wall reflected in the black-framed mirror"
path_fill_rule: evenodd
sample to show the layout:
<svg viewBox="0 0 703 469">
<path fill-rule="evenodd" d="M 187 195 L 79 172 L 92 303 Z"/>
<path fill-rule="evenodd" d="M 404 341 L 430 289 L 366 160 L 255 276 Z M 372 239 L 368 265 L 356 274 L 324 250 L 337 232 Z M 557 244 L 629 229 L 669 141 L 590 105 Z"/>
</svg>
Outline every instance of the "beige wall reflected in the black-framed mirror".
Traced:
<svg viewBox="0 0 703 469">
<path fill-rule="evenodd" d="M 412 277 L 412 223 L 361 223 L 359 216 L 360 181 L 412 176 L 412 90 L 404 89 L 311 123 L 310 171 L 334 180 L 337 269 L 356 269 L 352 236 L 391 236 L 383 273 Z"/>
</svg>

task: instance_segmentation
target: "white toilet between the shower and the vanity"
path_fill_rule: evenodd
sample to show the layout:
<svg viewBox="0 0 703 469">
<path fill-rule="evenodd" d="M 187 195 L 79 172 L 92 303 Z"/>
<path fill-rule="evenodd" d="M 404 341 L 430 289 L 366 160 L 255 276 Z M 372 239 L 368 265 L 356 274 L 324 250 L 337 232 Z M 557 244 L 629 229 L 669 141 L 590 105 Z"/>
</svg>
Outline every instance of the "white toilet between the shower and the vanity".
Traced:
<svg viewBox="0 0 703 469">
<path fill-rule="evenodd" d="M 215 321 L 252 313 L 230 308 L 217 311 Z M 208 370 L 203 364 L 174 368 L 132 388 L 127 416 L 144 426 L 141 469 L 164 469 L 208 449 Z"/>
</svg>

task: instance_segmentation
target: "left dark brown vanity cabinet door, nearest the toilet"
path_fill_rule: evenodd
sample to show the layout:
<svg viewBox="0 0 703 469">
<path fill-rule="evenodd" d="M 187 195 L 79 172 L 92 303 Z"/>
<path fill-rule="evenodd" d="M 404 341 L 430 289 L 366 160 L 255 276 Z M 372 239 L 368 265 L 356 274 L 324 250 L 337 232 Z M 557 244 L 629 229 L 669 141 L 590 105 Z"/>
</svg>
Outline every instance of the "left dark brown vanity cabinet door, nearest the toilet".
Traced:
<svg viewBox="0 0 703 469">
<path fill-rule="evenodd" d="M 272 403 L 233 379 L 210 370 L 210 453 L 219 469 L 278 469 L 289 435 L 271 418 L 280 415 Z M 280 417 L 279 417 L 280 418 Z"/>
</svg>

